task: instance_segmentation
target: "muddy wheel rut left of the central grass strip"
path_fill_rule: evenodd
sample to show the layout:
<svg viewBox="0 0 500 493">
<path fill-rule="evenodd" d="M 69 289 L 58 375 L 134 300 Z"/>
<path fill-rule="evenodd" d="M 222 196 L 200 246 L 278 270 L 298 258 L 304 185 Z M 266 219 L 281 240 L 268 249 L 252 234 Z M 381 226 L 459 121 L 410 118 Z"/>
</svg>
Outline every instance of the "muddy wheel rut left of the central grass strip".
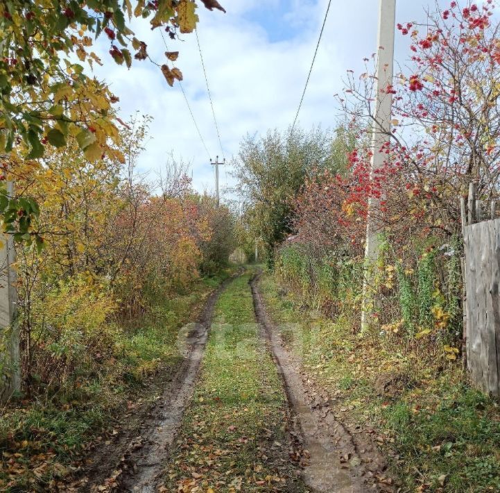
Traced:
<svg viewBox="0 0 500 493">
<path fill-rule="evenodd" d="M 234 276 L 210 294 L 198 322 L 189 324 L 181 348 L 184 360 L 154 408 L 112 446 L 94 454 L 94 466 L 87 472 L 89 481 L 78 491 L 153 493 L 160 490 L 166 460 L 198 378 L 216 301 L 233 280 Z"/>
</svg>

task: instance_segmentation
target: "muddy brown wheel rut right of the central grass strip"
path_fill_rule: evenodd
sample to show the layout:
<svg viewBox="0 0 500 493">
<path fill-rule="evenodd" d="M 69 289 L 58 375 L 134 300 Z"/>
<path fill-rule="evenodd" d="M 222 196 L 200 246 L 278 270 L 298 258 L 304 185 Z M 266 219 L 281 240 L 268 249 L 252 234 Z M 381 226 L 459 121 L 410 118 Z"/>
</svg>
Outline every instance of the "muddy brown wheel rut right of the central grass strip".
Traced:
<svg viewBox="0 0 500 493">
<path fill-rule="evenodd" d="M 284 381 L 296 426 L 294 434 L 309 456 L 304 481 L 318 493 L 393 492 L 393 487 L 373 481 L 387 466 L 376 446 L 368 438 L 354 437 L 335 419 L 328 399 L 308 385 L 300 362 L 282 345 L 261 298 L 259 277 L 257 274 L 250 281 L 255 316 Z"/>
</svg>

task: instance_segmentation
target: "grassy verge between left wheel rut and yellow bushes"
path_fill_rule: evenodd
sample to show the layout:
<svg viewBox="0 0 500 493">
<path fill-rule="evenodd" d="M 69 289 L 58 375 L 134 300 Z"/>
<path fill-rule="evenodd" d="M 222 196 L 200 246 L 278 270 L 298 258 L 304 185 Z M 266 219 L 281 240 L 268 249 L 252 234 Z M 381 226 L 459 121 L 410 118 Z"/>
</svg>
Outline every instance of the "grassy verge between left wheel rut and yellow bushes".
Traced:
<svg viewBox="0 0 500 493">
<path fill-rule="evenodd" d="M 202 279 L 189 294 L 157 300 L 148 315 L 123 329 L 112 353 L 92 372 L 80 369 L 51 394 L 12 402 L 0 410 L 0 491 L 46 491 L 69 473 L 89 442 L 127 412 L 127 401 L 153 401 L 181 357 L 179 329 L 196 317 L 204 300 L 228 274 Z"/>
</svg>

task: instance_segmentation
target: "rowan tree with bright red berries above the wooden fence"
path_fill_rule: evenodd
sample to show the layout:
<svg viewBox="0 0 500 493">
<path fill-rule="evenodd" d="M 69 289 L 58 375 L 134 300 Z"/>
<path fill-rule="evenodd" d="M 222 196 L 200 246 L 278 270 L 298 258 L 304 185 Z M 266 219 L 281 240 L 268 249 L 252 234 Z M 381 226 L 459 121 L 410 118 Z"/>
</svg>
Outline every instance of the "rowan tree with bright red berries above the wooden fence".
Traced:
<svg viewBox="0 0 500 493">
<path fill-rule="evenodd" d="M 381 89 L 393 95 L 393 121 L 382 151 L 387 160 L 370 176 L 372 149 L 361 147 L 352 169 L 362 182 L 353 190 L 361 212 L 368 197 L 383 197 L 374 211 L 381 227 L 404 235 L 408 221 L 425 231 L 453 235 L 459 228 L 458 197 L 471 181 L 479 196 L 497 196 L 500 156 L 500 23 L 494 2 L 452 1 L 426 24 L 398 24 L 411 37 L 411 60 Z M 368 61 L 368 60 L 367 60 Z M 348 75 L 345 99 L 361 133 L 379 126 L 372 117 L 375 78 Z M 359 124 L 361 123 L 361 128 Z"/>
</svg>

